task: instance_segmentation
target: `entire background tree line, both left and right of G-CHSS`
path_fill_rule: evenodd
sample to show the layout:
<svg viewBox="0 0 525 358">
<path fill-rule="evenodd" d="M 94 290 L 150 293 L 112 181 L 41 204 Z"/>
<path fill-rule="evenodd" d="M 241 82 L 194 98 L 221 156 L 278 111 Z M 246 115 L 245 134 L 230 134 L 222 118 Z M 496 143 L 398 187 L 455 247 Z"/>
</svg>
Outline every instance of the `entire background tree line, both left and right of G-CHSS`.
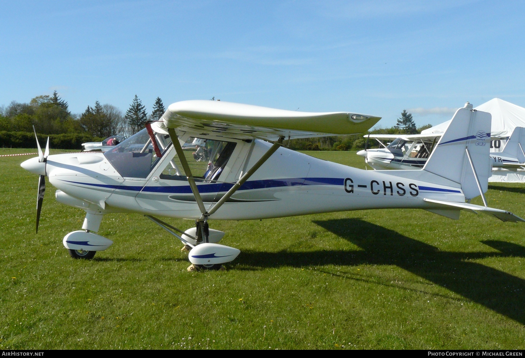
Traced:
<svg viewBox="0 0 525 358">
<path fill-rule="evenodd" d="M 96 139 L 104 139 L 110 135 L 122 134 L 129 137 L 144 128 L 146 122 L 159 120 L 164 112 L 164 103 L 157 97 L 151 114 L 148 114 L 146 107 L 135 94 L 125 114 L 117 107 L 108 103 L 101 104 L 99 101 L 95 101 L 93 106 L 87 106 L 83 113 L 74 114 L 69 111 L 67 101 L 60 98 L 58 92 L 54 91 L 51 96 L 37 96 L 29 103 L 13 101 L 7 107 L 0 106 L 0 131 L 33 132 L 34 126 L 37 133 L 41 135 L 81 134 L 82 138 L 91 136 Z M 293 139 L 285 143 L 294 150 L 355 150 L 363 149 L 366 145 L 369 148 L 377 146 L 375 141 L 369 141 L 369 144 L 366 144 L 363 135 L 367 133 L 414 134 L 421 133 L 422 130 L 430 127 L 432 125 L 427 124 L 417 128 L 412 114 L 403 110 L 396 125 L 391 128 L 376 128 L 370 132 L 353 135 Z M 24 141 L 18 140 L 18 142 L 23 143 Z M 2 143 L 7 145 L 8 142 L 2 140 Z"/>
</svg>

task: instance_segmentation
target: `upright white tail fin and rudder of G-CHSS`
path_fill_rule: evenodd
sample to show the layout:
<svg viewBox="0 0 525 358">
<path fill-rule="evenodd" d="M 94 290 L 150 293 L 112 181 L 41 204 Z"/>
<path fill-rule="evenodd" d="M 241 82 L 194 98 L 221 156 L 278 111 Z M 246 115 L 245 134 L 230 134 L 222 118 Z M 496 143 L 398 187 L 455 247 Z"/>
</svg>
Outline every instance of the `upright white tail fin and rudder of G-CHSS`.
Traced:
<svg viewBox="0 0 525 358">
<path fill-rule="evenodd" d="M 454 114 L 423 170 L 460 184 L 465 197 L 474 198 L 480 192 L 467 155 L 468 149 L 481 190 L 485 193 L 491 172 L 491 121 L 490 113 L 476 111 L 467 102 Z"/>
</svg>

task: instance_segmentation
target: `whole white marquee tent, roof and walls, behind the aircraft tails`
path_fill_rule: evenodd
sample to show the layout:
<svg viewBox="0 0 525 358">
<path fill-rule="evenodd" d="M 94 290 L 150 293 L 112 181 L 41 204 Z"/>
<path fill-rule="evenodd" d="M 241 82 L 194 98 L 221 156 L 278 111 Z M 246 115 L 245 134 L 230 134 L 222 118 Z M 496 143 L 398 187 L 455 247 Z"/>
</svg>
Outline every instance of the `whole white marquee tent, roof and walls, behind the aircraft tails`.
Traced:
<svg viewBox="0 0 525 358">
<path fill-rule="evenodd" d="M 516 106 L 516 104 L 503 101 L 499 98 L 493 98 L 488 102 L 480 104 L 475 109 L 479 111 L 489 112 L 492 115 L 492 125 L 490 130 L 491 139 L 496 140 L 495 147 L 492 148 L 491 152 L 502 151 L 506 139 L 512 134 L 512 131 L 516 127 L 525 127 L 525 108 Z M 443 134 L 448 128 L 450 120 L 435 125 L 432 128 L 425 129 L 422 134 Z M 501 144 L 497 139 L 501 139 Z M 498 145 L 496 145 L 498 144 Z M 525 171 L 518 170 L 506 170 L 498 168 L 492 172 L 492 176 L 489 178 L 489 182 L 511 182 L 511 183 L 524 183 L 525 182 Z"/>
</svg>

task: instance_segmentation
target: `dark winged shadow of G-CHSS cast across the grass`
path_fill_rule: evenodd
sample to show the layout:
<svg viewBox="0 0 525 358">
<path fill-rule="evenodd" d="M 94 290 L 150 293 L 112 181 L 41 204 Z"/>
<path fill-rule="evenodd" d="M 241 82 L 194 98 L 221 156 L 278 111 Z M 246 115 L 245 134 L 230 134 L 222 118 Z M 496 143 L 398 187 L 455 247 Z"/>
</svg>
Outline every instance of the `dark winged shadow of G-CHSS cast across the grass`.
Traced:
<svg viewBox="0 0 525 358">
<path fill-rule="evenodd" d="M 314 221 L 362 250 L 243 252 L 238 264 L 258 267 L 308 265 L 396 265 L 436 285 L 525 324 L 525 280 L 466 261 L 489 257 L 523 257 L 525 247 L 506 241 L 481 243 L 499 252 L 450 252 L 361 219 Z"/>
</svg>

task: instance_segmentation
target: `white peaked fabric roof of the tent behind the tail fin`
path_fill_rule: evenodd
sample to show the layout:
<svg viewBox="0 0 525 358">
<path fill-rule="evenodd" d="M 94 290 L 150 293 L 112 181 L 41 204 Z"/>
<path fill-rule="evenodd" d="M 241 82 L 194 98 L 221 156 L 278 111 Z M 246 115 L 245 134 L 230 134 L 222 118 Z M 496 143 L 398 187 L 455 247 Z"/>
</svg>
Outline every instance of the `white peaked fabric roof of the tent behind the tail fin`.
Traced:
<svg viewBox="0 0 525 358">
<path fill-rule="evenodd" d="M 525 127 L 525 108 L 516 104 L 493 98 L 488 102 L 480 104 L 475 109 L 489 112 L 492 115 L 492 128 L 490 136 L 492 138 L 508 138 L 516 127 Z M 421 134 L 443 134 L 448 128 L 450 120 L 425 129 Z"/>
</svg>

